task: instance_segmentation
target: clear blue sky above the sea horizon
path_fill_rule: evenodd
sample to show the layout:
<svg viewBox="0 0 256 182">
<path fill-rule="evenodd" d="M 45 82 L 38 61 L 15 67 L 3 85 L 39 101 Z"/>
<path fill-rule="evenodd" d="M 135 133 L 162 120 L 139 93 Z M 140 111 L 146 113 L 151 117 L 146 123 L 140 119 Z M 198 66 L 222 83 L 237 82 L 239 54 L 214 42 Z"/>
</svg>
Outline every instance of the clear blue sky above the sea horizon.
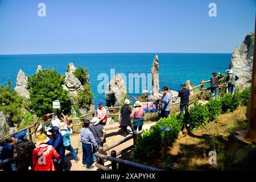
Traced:
<svg viewBox="0 0 256 182">
<path fill-rule="evenodd" d="M 0 0 L 0 55 L 231 53 L 254 31 L 255 10 L 255 0 Z"/>
</svg>

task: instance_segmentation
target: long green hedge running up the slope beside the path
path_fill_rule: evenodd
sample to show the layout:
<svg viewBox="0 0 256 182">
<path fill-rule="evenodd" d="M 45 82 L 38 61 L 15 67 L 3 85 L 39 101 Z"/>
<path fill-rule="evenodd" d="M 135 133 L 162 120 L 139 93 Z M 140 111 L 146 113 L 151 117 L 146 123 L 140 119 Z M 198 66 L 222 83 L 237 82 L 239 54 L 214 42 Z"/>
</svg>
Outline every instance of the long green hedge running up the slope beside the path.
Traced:
<svg viewBox="0 0 256 182">
<path fill-rule="evenodd" d="M 174 142 L 177 134 L 181 130 L 182 123 L 188 123 L 189 129 L 195 130 L 204 126 L 210 121 L 214 121 L 221 113 L 234 111 L 238 106 L 247 104 L 250 96 L 250 89 L 244 89 L 242 92 L 237 88 L 235 93 L 224 94 L 218 99 L 211 99 L 207 104 L 195 103 L 185 114 L 171 114 L 167 118 L 161 118 L 156 125 L 151 126 L 149 130 L 144 131 L 143 136 L 138 137 L 134 146 L 134 156 L 136 158 L 150 158 L 151 155 L 159 155 L 164 145 L 164 132 L 161 127 L 170 127 L 170 134 L 167 135 L 167 144 Z"/>
</svg>

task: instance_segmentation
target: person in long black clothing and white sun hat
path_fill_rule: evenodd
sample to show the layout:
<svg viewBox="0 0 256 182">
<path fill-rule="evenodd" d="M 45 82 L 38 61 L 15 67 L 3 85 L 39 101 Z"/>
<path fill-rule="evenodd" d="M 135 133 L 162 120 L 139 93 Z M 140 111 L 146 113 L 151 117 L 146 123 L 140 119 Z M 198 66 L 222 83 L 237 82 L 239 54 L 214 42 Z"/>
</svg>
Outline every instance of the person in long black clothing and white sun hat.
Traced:
<svg viewBox="0 0 256 182">
<path fill-rule="evenodd" d="M 126 98 L 125 104 L 121 107 L 120 111 L 120 121 L 121 121 L 121 128 L 122 134 L 124 137 L 127 135 L 127 126 L 130 126 L 131 130 L 134 132 L 133 126 L 131 125 L 131 108 L 129 106 L 130 100 Z"/>
</svg>

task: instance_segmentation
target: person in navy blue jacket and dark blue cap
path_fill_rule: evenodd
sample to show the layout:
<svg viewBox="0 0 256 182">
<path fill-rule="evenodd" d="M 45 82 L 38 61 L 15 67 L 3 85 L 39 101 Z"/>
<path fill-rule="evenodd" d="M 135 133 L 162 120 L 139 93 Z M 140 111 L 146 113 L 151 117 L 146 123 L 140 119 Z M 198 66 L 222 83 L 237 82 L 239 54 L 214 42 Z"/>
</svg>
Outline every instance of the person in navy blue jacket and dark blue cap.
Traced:
<svg viewBox="0 0 256 182">
<path fill-rule="evenodd" d="M 60 156 L 60 160 L 58 164 L 55 165 L 57 171 L 63 171 L 64 170 L 64 158 L 65 158 L 65 147 L 63 144 L 63 137 L 59 133 L 59 127 L 53 126 L 51 130 L 49 130 L 50 133 L 52 133 L 52 146 L 55 148 L 55 150 L 58 152 Z"/>
</svg>

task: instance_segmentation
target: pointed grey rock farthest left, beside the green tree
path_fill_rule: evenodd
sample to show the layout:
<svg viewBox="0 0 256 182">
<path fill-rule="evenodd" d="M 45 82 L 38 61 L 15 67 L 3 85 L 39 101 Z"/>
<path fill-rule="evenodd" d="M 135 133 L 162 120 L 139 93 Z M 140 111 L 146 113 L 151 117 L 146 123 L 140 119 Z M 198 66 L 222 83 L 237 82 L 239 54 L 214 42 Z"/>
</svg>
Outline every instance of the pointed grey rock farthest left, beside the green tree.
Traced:
<svg viewBox="0 0 256 182">
<path fill-rule="evenodd" d="M 28 100 L 30 98 L 30 93 L 27 90 L 27 76 L 21 69 L 18 72 L 14 90 L 19 94 L 19 96 L 23 97 L 24 100 Z"/>
</svg>

